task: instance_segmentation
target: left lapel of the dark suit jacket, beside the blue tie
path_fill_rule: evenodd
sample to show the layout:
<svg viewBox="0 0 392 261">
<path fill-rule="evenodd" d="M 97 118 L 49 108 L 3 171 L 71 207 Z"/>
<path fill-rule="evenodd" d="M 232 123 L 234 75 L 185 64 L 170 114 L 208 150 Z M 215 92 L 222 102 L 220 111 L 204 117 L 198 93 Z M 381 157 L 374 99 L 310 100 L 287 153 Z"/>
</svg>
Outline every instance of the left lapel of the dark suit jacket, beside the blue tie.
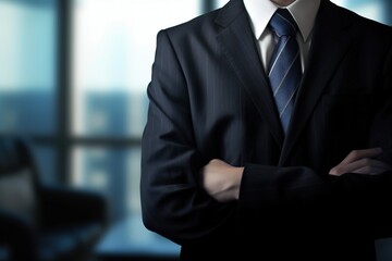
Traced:
<svg viewBox="0 0 392 261">
<path fill-rule="evenodd" d="M 216 22 L 223 26 L 218 42 L 281 148 L 283 130 L 243 1 L 230 1 Z"/>
</svg>

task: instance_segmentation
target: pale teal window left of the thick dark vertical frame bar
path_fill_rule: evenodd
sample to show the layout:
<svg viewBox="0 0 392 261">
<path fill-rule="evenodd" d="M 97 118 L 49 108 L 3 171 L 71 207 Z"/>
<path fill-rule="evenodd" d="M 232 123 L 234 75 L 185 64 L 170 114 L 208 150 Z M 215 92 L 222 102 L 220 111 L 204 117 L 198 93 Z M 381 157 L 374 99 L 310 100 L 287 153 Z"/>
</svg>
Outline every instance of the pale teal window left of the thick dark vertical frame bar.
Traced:
<svg viewBox="0 0 392 261">
<path fill-rule="evenodd" d="M 0 1 L 0 133 L 53 137 L 57 1 Z M 39 146 L 35 152 L 42 181 L 57 182 L 54 147 Z"/>
</svg>

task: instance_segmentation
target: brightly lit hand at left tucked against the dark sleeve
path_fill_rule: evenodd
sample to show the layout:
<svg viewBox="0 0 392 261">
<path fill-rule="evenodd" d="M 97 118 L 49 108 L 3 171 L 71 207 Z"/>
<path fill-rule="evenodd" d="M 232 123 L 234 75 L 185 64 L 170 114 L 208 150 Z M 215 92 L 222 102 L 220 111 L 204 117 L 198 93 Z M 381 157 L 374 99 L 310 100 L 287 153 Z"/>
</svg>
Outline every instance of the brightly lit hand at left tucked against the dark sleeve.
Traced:
<svg viewBox="0 0 392 261">
<path fill-rule="evenodd" d="M 238 199 L 244 167 L 232 166 L 221 160 L 211 160 L 201 169 L 203 186 L 220 202 Z"/>
</svg>

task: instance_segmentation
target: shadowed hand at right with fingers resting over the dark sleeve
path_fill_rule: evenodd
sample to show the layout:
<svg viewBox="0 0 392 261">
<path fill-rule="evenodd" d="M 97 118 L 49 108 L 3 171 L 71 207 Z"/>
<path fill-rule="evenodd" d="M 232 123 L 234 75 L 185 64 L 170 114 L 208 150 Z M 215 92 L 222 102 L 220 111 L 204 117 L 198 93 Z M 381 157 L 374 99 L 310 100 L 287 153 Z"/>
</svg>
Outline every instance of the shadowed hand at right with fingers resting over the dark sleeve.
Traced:
<svg viewBox="0 0 392 261">
<path fill-rule="evenodd" d="M 339 165 L 332 167 L 329 174 L 334 176 L 341 176 L 345 173 L 377 175 L 391 171 L 391 165 L 373 159 L 381 152 L 381 148 L 353 150 Z"/>
</svg>

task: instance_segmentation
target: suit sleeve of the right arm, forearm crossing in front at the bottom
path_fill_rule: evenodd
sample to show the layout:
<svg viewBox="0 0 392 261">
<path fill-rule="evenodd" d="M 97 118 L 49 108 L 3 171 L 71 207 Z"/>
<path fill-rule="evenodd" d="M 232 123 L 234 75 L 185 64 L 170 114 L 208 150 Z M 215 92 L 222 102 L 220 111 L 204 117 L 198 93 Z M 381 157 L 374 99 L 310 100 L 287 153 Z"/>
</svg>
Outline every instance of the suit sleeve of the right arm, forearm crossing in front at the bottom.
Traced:
<svg viewBox="0 0 392 261">
<path fill-rule="evenodd" d="M 367 144 L 368 148 L 383 148 L 377 159 L 392 165 L 392 48 L 384 61 L 380 84 L 375 86 L 378 98 Z M 256 234 L 269 229 L 279 234 L 293 226 L 309 227 L 307 223 L 319 220 L 330 223 L 331 231 L 326 233 L 333 233 L 334 227 L 353 232 L 360 227 L 360 232 L 375 238 L 392 236 L 392 172 L 322 176 L 308 167 L 248 164 L 240 194 L 243 231 L 255 231 L 254 224 L 258 223 Z M 285 220 L 289 215 L 294 219 Z M 282 225 L 271 228 L 273 224 Z"/>
</svg>

